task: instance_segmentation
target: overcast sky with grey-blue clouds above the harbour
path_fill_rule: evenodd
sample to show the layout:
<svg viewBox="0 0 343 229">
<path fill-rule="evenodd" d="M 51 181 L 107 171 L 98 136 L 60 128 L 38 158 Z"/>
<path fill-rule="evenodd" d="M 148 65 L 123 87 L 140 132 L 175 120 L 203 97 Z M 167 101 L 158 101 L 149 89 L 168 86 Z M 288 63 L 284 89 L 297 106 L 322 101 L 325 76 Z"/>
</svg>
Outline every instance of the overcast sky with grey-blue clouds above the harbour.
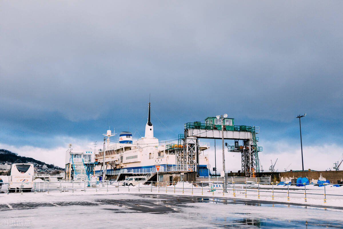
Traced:
<svg viewBox="0 0 343 229">
<path fill-rule="evenodd" d="M 305 169 L 330 168 L 343 153 L 342 9 L 0 0 L 0 148 L 63 166 L 69 142 L 88 149 L 109 126 L 143 135 L 151 94 L 160 140 L 223 113 L 260 126 L 264 170 L 276 158 L 279 170 L 301 169 L 295 117 L 307 113 Z M 230 170 L 240 169 L 236 158 L 227 153 Z"/>
</svg>

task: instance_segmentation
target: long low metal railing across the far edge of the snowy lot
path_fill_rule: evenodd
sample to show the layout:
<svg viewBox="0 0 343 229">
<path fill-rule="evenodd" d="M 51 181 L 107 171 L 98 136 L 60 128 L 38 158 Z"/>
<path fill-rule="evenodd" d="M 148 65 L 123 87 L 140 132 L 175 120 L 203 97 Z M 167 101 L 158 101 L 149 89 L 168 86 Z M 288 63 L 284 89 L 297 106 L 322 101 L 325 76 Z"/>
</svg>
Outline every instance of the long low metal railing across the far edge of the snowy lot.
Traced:
<svg viewBox="0 0 343 229">
<path fill-rule="evenodd" d="M 12 182 L 2 182 L 2 184 L 4 185 L 8 185 Z M 15 182 L 13 182 L 15 183 Z M 12 184 L 13 184 L 12 183 Z M 18 184 L 21 184 L 20 182 L 16 182 Z M 15 183 L 15 184 L 16 184 Z M 95 190 L 96 192 L 98 192 L 98 190 L 106 190 L 107 192 L 109 192 L 109 190 L 117 190 L 117 192 L 119 192 L 120 190 L 124 190 L 124 192 L 128 191 L 130 192 L 130 189 L 135 188 L 135 191 L 138 190 L 138 192 L 142 191 L 144 192 L 153 192 L 153 190 L 156 192 L 164 192 L 168 193 L 169 192 L 173 192 L 176 193 L 176 191 L 181 194 L 181 190 L 182 190 L 182 194 L 184 194 L 185 192 L 188 192 L 193 195 L 194 193 L 200 195 L 203 195 L 203 193 L 208 192 L 211 193 L 212 195 L 214 195 L 214 192 L 218 193 L 222 193 L 222 195 L 225 195 L 225 191 L 223 189 L 224 187 L 224 182 L 210 182 L 210 183 L 205 183 L 205 182 L 201 182 L 199 183 L 193 183 L 193 182 L 146 182 L 146 181 L 140 181 L 137 182 L 138 184 L 135 186 L 123 186 L 122 182 L 113 182 L 110 183 L 109 181 L 59 181 L 59 182 L 32 182 L 32 190 L 30 190 L 31 192 L 33 191 L 34 193 L 37 192 L 50 192 L 50 191 L 59 191 L 59 192 L 75 192 L 75 191 L 81 191 L 81 192 L 86 192 L 86 190 Z M 144 185 L 144 183 L 147 183 L 147 185 Z M 227 184 L 227 187 L 230 187 L 227 189 L 229 194 L 232 194 L 233 197 L 236 197 L 236 192 L 237 191 L 241 191 L 238 193 L 238 195 L 245 195 L 245 197 L 247 197 L 248 193 L 256 193 L 257 195 L 254 196 L 254 198 L 260 198 L 260 193 L 270 193 L 270 197 L 272 197 L 272 200 L 274 200 L 275 194 L 279 195 L 277 196 L 278 198 L 287 198 L 287 201 L 290 200 L 290 195 L 292 194 L 294 195 L 294 197 L 297 195 L 297 197 L 300 196 L 304 196 L 304 201 L 307 202 L 307 197 L 309 195 L 312 196 L 323 196 L 323 201 L 324 203 L 326 203 L 327 201 L 327 196 L 336 196 L 336 197 L 341 197 L 343 198 L 343 195 L 340 194 L 328 194 L 328 192 L 330 192 L 331 190 L 328 190 L 326 188 L 326 186 L 329 185 L 338 185 L 338 186 L 342 186 L 342 184 L 302 184 L 304 185 L 304 188 L 300 188 L 297 189 L 298 192 L 289 192 L 289 186 L 291 184 L 296 185 L 296 183 L 287 183 L 285 185 L 287 185 L 287 189 L 283 188 L 283 189 L 276 189 L 274 188 L 275 185 L 274 183 L 272 183 L 272 187 L 269 186 L 269 189 L 266 189 L 265 187 L 263 189 L 261 189 L 261 187 L 263 187 L 264 185 L 260 185 L 260 183 L 257 183 L 255 186 L 249 186 L 248 184 Z M 310 185 L 322 185 L 322 188 L 319 189 L 309 189 L 308 186 Z M 19 193 L 23 194 L 23 190 L 22 189 L 16 189 L 18 190 Z M 311 192 L 308 192 L 309 190 L 311 190 Z M 316 193 L 315 193 L 316 192 Z M 7 188 L 7 194 L 9 194 L 9 189 Z M 228 196 L 228 195 L 226 195 Z M 263 197 L 265 197 L 266 195 L 263 195 Z M 302 198 L 302 197 L 301 197 Z M 314 198 L 314 199 L 318 199 L 318 198 Z M 275 200 L 276 201 L 276 200 Z M 280 201 L 280 199 L 278 199 L 277 201 Z M 336 201 L 336 199 L 334 199 L 333 201 Z"/>
</svg>

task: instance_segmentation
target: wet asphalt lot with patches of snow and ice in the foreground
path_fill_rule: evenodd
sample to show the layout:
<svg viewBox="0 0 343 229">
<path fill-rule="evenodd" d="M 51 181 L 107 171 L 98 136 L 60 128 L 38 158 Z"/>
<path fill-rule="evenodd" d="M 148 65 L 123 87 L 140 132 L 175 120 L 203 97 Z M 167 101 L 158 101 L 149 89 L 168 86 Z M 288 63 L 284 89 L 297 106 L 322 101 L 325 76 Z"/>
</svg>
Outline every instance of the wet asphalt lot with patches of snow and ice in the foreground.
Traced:
<svg viewBox="0 0 343 229">
<path fill-rule="evenodd" d="M 199 195 L 0 194 L 1 228 L 342 228 L 342 212 Z"/>
</svg>

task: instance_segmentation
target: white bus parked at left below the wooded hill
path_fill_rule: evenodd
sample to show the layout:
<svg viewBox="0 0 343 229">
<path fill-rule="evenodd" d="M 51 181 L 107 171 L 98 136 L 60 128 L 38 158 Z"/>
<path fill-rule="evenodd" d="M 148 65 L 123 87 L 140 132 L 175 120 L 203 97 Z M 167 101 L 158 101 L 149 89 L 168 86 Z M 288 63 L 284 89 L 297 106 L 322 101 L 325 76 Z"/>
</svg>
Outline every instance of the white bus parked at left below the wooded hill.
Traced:
<svg viewBox="0 0 343 229">
<path fill-rule="evenodd" d="M 9 191 L 17 192 L 31 192 L 33 187 L 33 164 L 12 164 L 8 171 Z"/>
</svg>

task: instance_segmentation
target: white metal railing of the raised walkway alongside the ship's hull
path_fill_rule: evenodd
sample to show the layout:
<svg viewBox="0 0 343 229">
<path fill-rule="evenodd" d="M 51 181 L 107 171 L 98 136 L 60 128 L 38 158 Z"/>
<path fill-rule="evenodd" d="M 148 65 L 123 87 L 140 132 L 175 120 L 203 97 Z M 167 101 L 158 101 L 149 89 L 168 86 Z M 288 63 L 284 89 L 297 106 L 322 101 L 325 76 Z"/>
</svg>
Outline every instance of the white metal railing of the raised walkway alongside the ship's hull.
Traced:
<svg viewBox="0 0 343 229">
<path fill-rule="evenodd" d="M 194 171 L 195 171 L 195 165 L 161 165 L 158 170 L 158 172 L 194 172 Z M 135 168 L 135 169 L 122 168 L 120 170 L 115 170 L 115 171 L 106 171 L 107 175 L 149 174 L 149 173 L 157 173 L 156 167 Z"/>
</svg>

